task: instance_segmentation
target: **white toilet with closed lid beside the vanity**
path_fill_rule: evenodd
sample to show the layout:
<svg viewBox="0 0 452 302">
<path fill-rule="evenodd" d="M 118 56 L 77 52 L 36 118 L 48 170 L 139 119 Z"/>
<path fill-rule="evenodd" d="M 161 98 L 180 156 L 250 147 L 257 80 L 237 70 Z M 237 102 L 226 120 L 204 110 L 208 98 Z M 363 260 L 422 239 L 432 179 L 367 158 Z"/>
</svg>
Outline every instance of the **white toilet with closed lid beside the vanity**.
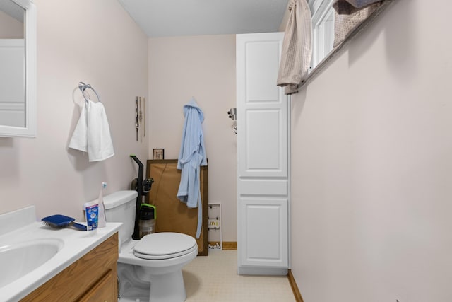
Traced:
<svg viewBox="0 0 452 302">
<path fill-rule="evenodd" d="M 119 294 L 129 301 L 182 302 L 186 299 L 182 267 L 198 255 L 196 240 L 182 233 L 151 233 L 133 240 L 137 192 L 104 197 L 107 222 L 119 228 Z M 119 301 L 123 301 L 121 298 Z"/>
</svg>

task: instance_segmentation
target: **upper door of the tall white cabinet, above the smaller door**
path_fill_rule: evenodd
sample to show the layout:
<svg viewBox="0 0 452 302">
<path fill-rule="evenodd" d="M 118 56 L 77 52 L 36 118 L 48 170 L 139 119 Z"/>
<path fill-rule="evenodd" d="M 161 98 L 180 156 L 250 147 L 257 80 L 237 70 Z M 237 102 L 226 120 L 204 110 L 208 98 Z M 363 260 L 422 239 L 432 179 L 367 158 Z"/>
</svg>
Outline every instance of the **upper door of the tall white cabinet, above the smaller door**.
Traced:
<svg viewBox="0 0 452 302">
<path fill-rule="evenodd" d="M 276 86 L 283 33 L 237 35 L 239 177 L 287 177 L 287 97 Z"/>
</svg>

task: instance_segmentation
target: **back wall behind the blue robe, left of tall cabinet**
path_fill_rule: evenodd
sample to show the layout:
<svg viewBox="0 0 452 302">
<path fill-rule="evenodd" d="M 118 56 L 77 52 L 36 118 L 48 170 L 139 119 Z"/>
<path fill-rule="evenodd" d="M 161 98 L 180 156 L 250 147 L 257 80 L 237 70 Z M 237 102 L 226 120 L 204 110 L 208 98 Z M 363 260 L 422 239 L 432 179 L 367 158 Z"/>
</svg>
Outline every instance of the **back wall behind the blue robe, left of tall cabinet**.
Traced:
<svg viewBox="0 0 452 302">
<path fill-rule="evenodd" d="M 149 39 L 150 141 L 179 156 L 183 106 L 191 97 L 203 110 L 209 202 L 222 203 L 222 236 L 237 241 L 236 135 L 227 111 L 235 102 L 235 35 Z"/>
</svg>

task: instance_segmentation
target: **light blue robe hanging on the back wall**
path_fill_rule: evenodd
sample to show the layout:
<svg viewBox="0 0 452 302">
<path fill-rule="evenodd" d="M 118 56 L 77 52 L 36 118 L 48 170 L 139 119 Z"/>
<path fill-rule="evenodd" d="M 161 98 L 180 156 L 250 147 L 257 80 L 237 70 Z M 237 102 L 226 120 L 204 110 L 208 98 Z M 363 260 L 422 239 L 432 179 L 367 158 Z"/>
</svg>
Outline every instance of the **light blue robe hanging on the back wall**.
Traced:
<svg viewBox="0 0 452 302">
<path fill-rule="evenodd" d="M 181 182 L 177 191 L 177 198 L 186 203 L 189 208 L 198 207 L 198 228 L 196 238 L 201 236 L 203 223 L 203 207 L 201 201 L 199 173 L 200 166 L 207 165 L 206 147 L 201 124 L 204 120 L 203 111 L 198 107 L 194 98 L 184 105 L 184 129 L 182 130 L 182 144 L 177 161 L 177 168 L 181 171 Z"/>
</svg>

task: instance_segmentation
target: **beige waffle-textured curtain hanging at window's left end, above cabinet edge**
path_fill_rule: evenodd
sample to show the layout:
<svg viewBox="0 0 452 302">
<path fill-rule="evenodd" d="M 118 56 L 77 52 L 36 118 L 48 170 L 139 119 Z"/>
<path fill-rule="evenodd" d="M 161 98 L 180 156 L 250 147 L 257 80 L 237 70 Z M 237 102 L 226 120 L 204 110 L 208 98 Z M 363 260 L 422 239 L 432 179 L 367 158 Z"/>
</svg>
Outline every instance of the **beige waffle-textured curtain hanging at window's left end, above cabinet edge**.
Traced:
<svg viewBox="0 0 452 302">
<path fill-rule="evenodd" d="M 277 85 L 285 94 L 297 93 L 308 75 L 312 56 L 311 11 L 306 0 L 290 0 L 289 21 L 285 29 Z"/>
</svg>

